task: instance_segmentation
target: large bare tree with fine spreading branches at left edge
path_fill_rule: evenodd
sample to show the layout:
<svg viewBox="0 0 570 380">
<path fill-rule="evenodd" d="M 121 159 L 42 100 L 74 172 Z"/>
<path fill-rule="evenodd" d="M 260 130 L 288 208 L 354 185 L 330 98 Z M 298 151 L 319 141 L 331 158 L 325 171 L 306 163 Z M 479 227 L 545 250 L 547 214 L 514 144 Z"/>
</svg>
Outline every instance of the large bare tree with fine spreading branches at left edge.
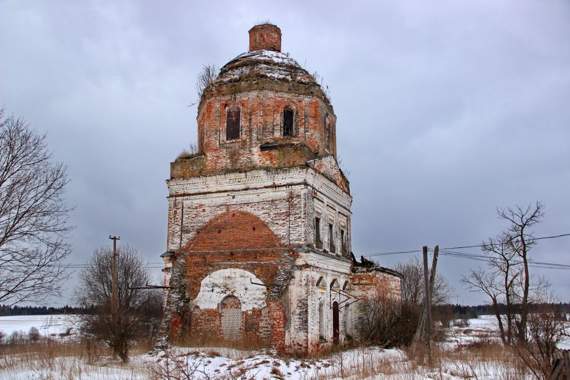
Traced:
<svg viewBox="0 0 570 380">
<path fill-rule="evenodd" d="M 46 135 L 0 110 L 0 303 L 60 295 L 70 254 L 67 166 L 52 162 Z"/>
</svg>

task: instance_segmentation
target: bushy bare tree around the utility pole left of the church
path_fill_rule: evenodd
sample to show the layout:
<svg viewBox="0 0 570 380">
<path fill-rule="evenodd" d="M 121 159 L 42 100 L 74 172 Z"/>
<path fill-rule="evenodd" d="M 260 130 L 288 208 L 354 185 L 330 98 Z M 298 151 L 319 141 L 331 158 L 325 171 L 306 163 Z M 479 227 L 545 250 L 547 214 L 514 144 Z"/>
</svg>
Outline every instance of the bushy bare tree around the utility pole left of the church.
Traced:
<svg viewBox="0 0 570 380">
<path fill-rule="evenodd" d="M 151 280 L 150 271 L 135 247 L 121 244 L 117 248 L 117 307 L 111 307 L 113 250 L 103 247 L 95 250 L 85 269 L 79 275 L 76 302 L 91 308 L 91 314 L 80 316 L 80 332 L 84 338 L 103 341 L 124 362 L 137 337 L 146 332 L 149 324 L 157 325 L 162 310 L 160 292 L 145 287 Z"/>
</svg>

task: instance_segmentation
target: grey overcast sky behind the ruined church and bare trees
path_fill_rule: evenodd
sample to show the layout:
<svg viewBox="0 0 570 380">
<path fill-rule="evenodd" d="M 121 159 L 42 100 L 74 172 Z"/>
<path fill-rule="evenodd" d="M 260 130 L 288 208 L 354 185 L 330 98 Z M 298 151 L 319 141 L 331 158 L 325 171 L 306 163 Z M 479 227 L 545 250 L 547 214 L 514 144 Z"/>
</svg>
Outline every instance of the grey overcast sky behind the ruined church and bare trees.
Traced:
<svg viewBox="0 0 570 380">
<path fill-rule="evenodd" d="M 2 0 L 0 18 L 0 104 L 69 166 L 70 263 L 109 234 L 161 262 L 169 163 L 197 139 L 196 75 L 266 19 L 331 92 L 357 257 L 479 244 L 508 227 L 496 207 L 537 200 L 536 236 L 570 232 L 569 1 Z M 541 240 L 531 256 L 570 264 L 568 247 Z M 484 301 L 459 283 L 481 264 L 440 256 L 454 301 Z M 535 273 L 570 301 L 570 271 Z"/>
</svg>

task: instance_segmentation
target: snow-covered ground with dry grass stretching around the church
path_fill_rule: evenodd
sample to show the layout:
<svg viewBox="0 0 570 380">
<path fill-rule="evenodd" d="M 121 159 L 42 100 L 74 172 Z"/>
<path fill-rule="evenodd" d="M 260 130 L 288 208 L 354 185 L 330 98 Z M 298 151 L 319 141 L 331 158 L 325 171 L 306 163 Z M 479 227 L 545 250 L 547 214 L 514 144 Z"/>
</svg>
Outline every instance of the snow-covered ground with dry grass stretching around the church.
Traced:
<svg viewBox="0 0 570 380">
<path fill-rule="evenodd" d="M 32 326 L 44 336 L 55 337 L 71 328 L 72 316 L 0 317 L 0 330 L 7 336 L 27 332 Z M 168 352 L 131 356 L 127 365 L 109 357 L 88 363 L 86 348 L 75 352 L 8 354 L 0 356 L 0 379 L 507 379 L 530 378 L 510 360 L 506 350 L 464 350 L 481 340 L 497 340 L 495 320 L 483 316 L 469 326 L 453 327 L 447 342 L 434 349 L 434 365 L 428 369 L 416 356 L 398 349 L 360 348 L 323 358 L 280 358 L 267 352 L 229 348 L 180 348 Z M 73 332 L 71 337 L 73 337 Z M 485 350 L 493 349 L 493 346 Z M 182 371 L 180 371 L 182 369 Z M 173 377 L 168 377 L 168 374 Z"/>
</svg>

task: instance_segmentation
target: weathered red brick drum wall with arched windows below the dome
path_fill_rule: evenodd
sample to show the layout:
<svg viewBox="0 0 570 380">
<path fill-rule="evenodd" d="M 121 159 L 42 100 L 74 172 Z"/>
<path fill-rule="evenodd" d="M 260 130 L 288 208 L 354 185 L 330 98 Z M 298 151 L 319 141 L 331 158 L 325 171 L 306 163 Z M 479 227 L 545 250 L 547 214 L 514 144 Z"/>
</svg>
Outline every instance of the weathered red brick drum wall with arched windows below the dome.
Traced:
<svg viewBox="0 0 570 380">
<path fill-rule="evenodd" d="M 195 168 L 193 175 L 196 172 L 203 175 L 296 166 L 318 156 L 336 156 L 336 117 L 332 107 L 316 96 L 317 89 L 310 91 L 313 88 L 310 85 L 270 82 L 273 88 L 269 90 L 262 83 L 263 81 L 241 81 L 222 84 L 216 87 L 221 92 L 220 95 L 205 96 L 198 111 L 198 144 L 205 157 L 189 160 L 192 162 L 190 166 Z M 243 88 L 239 92 L 235 91 L 234 87 L 237 86 Z M 291 93 L 295 88 L 299 92 L 314 94 L 306 96 Z M 229 96 L 225 96 L 226 91 Z M 232 107 L 241 109 L 240 137 L 226 140 L 226 110 Z M 283 109 L 286 107 L 294 111 L 294 136 L 291 137 L 282 136 Z M 329 150 L 325 149 L 325 122 L 331 124 Z M 284 145 L 301 143 L 308 149 L 307 152 L 291 151 L 292 154 L 283 149 L 278 152 L 261 151 L 260 145 L 270 141 L 279 141 Z M 173 169 L 176 167 L 174 165 Z M 176 170 L 173 170 L 171 177 L 182 178 L 180 171 Z"/>
</svg>

